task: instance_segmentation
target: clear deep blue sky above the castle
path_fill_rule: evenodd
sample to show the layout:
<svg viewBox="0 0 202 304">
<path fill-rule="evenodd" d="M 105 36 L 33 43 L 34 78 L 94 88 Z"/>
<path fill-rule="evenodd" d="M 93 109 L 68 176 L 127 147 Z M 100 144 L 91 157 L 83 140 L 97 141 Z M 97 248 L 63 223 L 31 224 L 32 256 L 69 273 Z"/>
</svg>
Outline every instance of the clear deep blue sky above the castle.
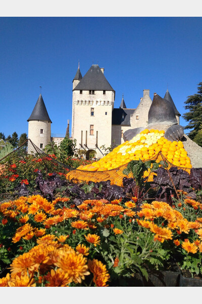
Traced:
<svg viewBox="0 0 202 304">
<path fill-rule="evenodd" d="M 72 81 L 92 64 L 105 68 L 116 91 L 135 108 L 143 89 L 164 97 L 167 85 L 178 111 L 202 81 L 201 17 L 1 17 L 0 132 L 28 133 L 40 94 L 52 133 L 65 134 L 72 118 Z M 180 124 L 186 122 L 180 118 Z"/>
</svg>

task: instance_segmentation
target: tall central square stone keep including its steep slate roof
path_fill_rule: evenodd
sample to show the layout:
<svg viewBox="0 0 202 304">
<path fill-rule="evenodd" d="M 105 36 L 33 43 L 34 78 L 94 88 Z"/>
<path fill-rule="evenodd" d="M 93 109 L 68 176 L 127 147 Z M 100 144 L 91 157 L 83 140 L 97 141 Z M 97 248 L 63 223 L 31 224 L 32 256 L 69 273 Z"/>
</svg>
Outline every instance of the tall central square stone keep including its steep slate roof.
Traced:
<svg viewBox="0 0 202 304">
<path fill-rule="evenodd" d="M 104 68 L 93 64 L 82 77 L 78 68 L 73 79 L 72 139 L 77 148 L 87 150 L 86 157 L 94 150 L 96 157 L 103 157 L 100 146 L 112 143 L 112 111 L 115 90 L 104 75 Z"/>
</svg>

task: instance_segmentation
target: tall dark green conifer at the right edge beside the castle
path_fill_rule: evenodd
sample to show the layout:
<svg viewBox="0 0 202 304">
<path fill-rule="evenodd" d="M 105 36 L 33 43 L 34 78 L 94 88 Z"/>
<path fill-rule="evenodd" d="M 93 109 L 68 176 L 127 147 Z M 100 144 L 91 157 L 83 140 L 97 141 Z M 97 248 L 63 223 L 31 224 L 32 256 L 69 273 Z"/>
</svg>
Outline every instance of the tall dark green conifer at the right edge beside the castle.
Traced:
<svg viewBox="0 0 202 304">
<path fill-rule="evenodd" d="M 189 129 L 188 137 L 194 139 L 197 133 L 202 129 L 202 82 L 198 84 L 197 94 L 190 95 L 184 102 L 184 108 L 189 110 L 182 118 L 188 122 L 184 129 Z"/>
</svg>

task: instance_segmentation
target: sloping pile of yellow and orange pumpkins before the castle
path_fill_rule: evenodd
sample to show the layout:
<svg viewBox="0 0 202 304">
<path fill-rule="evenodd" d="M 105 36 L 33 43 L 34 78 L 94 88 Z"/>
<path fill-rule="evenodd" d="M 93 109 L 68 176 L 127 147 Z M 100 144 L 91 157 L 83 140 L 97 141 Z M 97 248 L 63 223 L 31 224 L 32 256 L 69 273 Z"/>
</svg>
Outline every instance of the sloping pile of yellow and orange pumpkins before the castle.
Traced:
<svg viewBox="0 0 202 304">
<path fill-rule="evenodd" d="M 191 168 L 190 158 L 184 149 L 182 141 L 170 141 L 164 137 L 164 130 L 145 129 L 114 148 L 109 154 L 97 162 L 80 166 L 84 171 L 106 171 L 118 168 L 132 160 L 147 161 L 156 156 L 159 151 L 173 165 Z"/>
</svg>

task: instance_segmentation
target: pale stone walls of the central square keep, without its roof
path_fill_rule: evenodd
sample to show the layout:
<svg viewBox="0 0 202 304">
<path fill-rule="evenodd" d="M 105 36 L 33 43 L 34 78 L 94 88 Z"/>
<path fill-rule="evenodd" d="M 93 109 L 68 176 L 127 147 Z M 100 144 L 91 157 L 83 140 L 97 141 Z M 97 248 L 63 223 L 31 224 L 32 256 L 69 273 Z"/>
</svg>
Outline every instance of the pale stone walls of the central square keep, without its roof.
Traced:
<svg viewBox="0 0 202 304">
<path fill-rule="evenodd" d="M 91 115 L 92 108 L 93 116 Z M 77 140 L 77 148 L 82 148 L 80 145 L 82 144 L 85 149 L 95 150 L 96 158 L 104 156 L 100 146 L 109 147 L 111 145 L 113 108 L 113 91 L 106 91 L 106 94 L 103 94 L 103 91 L 95 90 L 93 95 L 89 94 L 89 90 L 83 90 L 82 94 L 78 90 L 73 91 L 72 139 Z M 90 126 L 93 126 L 91 130 Z M 86 139 L 87 147 L 85 146 Z"/>
</svg>

